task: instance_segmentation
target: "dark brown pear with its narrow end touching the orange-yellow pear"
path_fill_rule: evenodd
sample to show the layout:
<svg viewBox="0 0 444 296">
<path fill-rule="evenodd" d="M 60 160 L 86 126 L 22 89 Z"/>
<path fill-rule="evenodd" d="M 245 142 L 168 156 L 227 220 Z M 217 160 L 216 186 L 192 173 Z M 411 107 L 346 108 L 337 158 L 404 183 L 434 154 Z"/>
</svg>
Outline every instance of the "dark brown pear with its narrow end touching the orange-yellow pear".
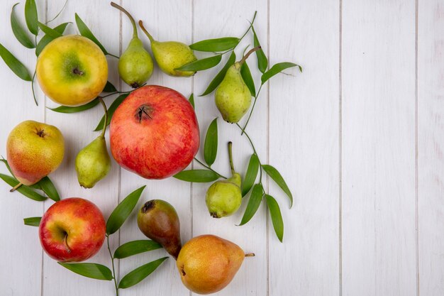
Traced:
<svg viewBox="0 0 444 296">
<path fill-rule="evenodd" d="M 137 216 L 140 231 L 149 239 L 160 243 L 177 259 L 182 243 L 180 241 L 179 216 L 174 207 L 162 199 L 145 202 Z"/>
</svg>

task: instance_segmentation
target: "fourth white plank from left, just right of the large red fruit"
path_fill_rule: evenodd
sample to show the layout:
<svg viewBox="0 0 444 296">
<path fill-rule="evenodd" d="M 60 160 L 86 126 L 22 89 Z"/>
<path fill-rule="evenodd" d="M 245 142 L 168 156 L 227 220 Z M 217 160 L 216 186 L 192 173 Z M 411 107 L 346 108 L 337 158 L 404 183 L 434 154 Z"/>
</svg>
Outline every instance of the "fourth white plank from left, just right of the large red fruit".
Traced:
<svg viewBox="0 0 444 296">
<path fill-rule="evenodd" d="M 249 26 L 254 12 L 257 11 L 255 28 L 262 45 L 267 48 L 267 1 L 195 1 L 194 3 L 194 41 L 226 36 L 240 37 Z M 252 33 L 248 33 L 235 50 L 236 60 L 242 57 L 243 49 L 252 45 Z M 251 48 L 251 46 L 250 46 Z M 207 56 L 196 53 L 198 57 Z M 221 65 L 211 70 L 198 72 L 194 78 L 194 92 L 199 95 L 208 87 L 209 82 L 225 65 L 228 54 L 223 58 Z M 256 84 L 260 75 L 256 70 L 256 58 L 252 55 L 248 65 L 254 75 Z M 266 92 L 260 94 L 255 107 L 255 114 L 250 121 L 249 133 L 255 142 L 257 153 L 261 159 L 267 157 L 267 101 Z M 235 169 L 242 175 L 248 166 L 252 154 L 245 136 L 240 136 L 240 130 L 234 124 L 227 124 L 214 104 L 214 93 L 206 97 L 196 97 L 196 113 L 201 126 L 201 145 L 204 143 L 206 129 L 211 121 L 218 117 L 218 154 L 213 168 L 223 175 L 229 175 L 228 141 L 233 141 L 233 158 Z M 244 119 L 240 123 L 244 123 Z M 197 155 L 204 160 L 203 149 Z M 194 163 L 195 168 L 201 168 Z M 210 184 L 193 184 L 193 236 L 201 234 L 215 234 L 223 239 L 237 243 L 245 252 L 255 253 L 255 257 L 246 258 L 230 285 L 218 295 L 266 295 L 267 294 L 267 229 L 264 207 L 260 207 L 253 219 L 244 226 L 239 224 L 245 211 L 248 199 L 244 199 L 243 206 L 233 216 L 214 219 L 209 215 L 205 204 L 205 194 Z M 252 275 L 254 270 L 254 275 Z"/>
</svg>

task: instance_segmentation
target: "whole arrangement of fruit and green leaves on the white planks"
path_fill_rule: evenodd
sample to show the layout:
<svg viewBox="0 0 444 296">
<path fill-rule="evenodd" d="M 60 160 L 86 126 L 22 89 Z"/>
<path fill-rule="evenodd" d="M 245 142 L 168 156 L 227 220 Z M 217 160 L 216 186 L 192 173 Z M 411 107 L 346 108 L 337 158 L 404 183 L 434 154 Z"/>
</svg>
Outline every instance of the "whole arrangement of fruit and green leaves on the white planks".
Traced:
<svg viewBox="0 0 444 296">
<path fill-rule="evenodd" d="M 133 28 L 133 37 L 120 57 L 110 54 L 101 45 L 77 13 L 75 23 L 80 35 L 63 35 L 69 23 L 51 28 L 48 23 L 38 21 L 35 0 L 27 0 L 25 5 L 28 30 L 17 20 L 14 12 L 16 5 L 11 11 L 11 26 L 17 40 L 26 48 L 35 48 L 37 61 L 34 75 L 31 76 L 28 69 L 0 44 L 0 57 L 13 73 L 31 82 L 33 90 L 34 81 L 37 80 L 45 95 L 60 104 L 52 111 L 75 114 L 99 104 L 104 107 L 104 116 L 95 128 L 95 131 L 100 131 L 99 136 L 82 148 L 75 158 L 72 169 L 77 172 L 79 186 L 94 187 L 116 164 L 149 180 L 174 177 L 184 182 L 213 182 L 206 196 L 202 197 L 209 216 L 216 219 L 230 216 L 238 211 L 244 197 L 248 197 L 239 224 L 243 225 L 252 219 L 264 200 L 277 238 L 282 241 L 284 222 L 279 204 L 264 190 L 262 173 L 265 172 L 282 188 L 289 198 L 290 207 L 293 203 L 292 192 L 276 168 L 260 161 L 246 128 L 262 86 L 283 70 L 298 67 L 302 71 L 302 68 L 292 62 L 280 62 L 268 68 L 267 57 L 254 28 L 256 13 L 240 38 L 215 38 L 186 45 L 177 41 L 155 40 L 143 21 L 136 23 L 126 9 L 113 2 L 111 6 L 124 13 Z M 149 39 L 152 55 L 144 48 L 138 27 Z M 35 40 L 31 40 L 28 33 L 35 35 Z M 235 48 L 248 33 L 252 33 L 253 48 L 245 48 L 243 56 L 236 62 Z M 198 59 L 194 51 L 214 55 Z M 166 75 L 187 79 L 198 71 L 216 67 L 226 54 L 229 54 L 226 65 L 221 67 L 201 96 L 214 92 L 214 102 L 223 121 L 232 124 L 248 139 L 252 155 L 244 176 L 235 171 L 231 141 L 228 142 L 231 177 L 211 168 L 217 156 L 218 119 L 214 119 L 206 129 L 204 146 L 200 147 L 194 94 L 186 99 L 169 87 L 147 85 L 153 71 L 157 70 L 155 64 Z M 257 91 L 247 64 L 253 54 L 257 58 L 257 70 L 262 73 Z M 109 69 L 106 55 L 118 59 L 116 70 Z M 133 89 L 118 91 L 107 81 L 110 71 L 117 71 L 121 80 Z M 118 97 L 107 107 L 104 99 L 117 94 Z M 37 104 L 35 94 L 34 100 Z M 105 132 L 108 126 L 109 145 L 115 162 L 107 150 Z M 204 161 L 196 158 L 199 148 L 203 150 Z M 72 272 L 97 280 L 112 280 L 118 295 L 120 289 L 132 287 L 147 278 L 169 257 L 135 268 L 121 279 L 116 277 L 115 261 L 165 248 L 176 260 L 185 287 L 198 294 L 210 294 L 226 287 L 244 258 L 254 256 L 253 253 L 245 253 L 235 243 L 211 234 L 196 236 L 182 246 L 179 216 L 172 204 L 162 199 L 149 200 L 138 211 L 138 228 L 148 239 L 123 243 L 112 252 L 109 238 L 131 216 L 145 186 L 128 194 L 105 219 L 101 210 L 87 199 L 60 199 L 48 175 L 62 163 L 64 155 L 65 141 L 58 128 L 23 121 L 9 133 L 6 159 L 1 160 L 11 175 L 0 174 L 0 178 L 11 186 L 11 192 L 17 191 L 35 201 L 50 198 L 55 202 L 42 217 L 25 218 L 24 222 L 29 226 L 38 226 L 45 253 Z M 203 168 L 187 169 L 193 161 Z M 97 263 L 82 263 L 94 256 L 105 241 L 111 268 Z"/>
</svg>

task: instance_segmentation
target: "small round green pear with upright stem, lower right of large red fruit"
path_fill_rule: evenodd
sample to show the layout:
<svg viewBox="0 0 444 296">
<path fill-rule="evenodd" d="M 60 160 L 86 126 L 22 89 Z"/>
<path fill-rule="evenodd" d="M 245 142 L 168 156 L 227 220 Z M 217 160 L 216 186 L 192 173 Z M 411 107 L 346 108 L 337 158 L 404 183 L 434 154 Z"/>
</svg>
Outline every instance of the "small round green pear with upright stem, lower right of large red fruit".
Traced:
<svg viewBox="0 0 444 296">
<path fill-rule="evenodd" d="M 214 182 L 206 191 L 206 207 L 213 218 L 234 214 L 242 203 L 242 192 L 240 191 L 242 181 L 238 172 L 234 170 L 232 145 L 231 142 L 228 142 L 231 178 Z"/>
</svg>

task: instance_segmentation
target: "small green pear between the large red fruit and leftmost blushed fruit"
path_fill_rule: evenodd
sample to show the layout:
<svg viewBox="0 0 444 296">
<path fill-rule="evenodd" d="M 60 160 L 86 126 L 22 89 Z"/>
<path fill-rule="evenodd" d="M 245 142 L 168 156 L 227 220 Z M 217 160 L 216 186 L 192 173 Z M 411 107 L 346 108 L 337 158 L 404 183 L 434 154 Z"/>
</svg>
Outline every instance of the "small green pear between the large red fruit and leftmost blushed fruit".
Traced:
<svg viewBox="0 0 444 296">
<path fill-rule="evenodd" d="M 102 99 L 101 103 L 106 106 Z M 84 188 L 92 188 L 96 182 L 102 180 L 111 170 L 111 158 L 106 149 L 105 131 L 108 113 L 105 111 L 104 129 L 101 135 L 89 143 L 77 154 L 75 160 L 75 169 L 77 172 L 77 180 L 80 186 Z"/>
</svg>

